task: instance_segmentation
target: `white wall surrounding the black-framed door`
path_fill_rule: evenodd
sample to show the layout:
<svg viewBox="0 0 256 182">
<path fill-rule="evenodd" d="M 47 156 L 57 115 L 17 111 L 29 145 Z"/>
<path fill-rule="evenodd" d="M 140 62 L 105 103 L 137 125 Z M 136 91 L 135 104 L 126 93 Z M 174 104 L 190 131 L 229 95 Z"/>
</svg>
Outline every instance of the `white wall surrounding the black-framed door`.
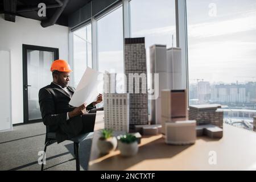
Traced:
<svg viewBox="0 0 256 182">
<path fill-rule="evenodd" d="M 11 118 L 13 124 L 23 123 L 22 44 L 59 48 L 60 59 L 68 60 L 68 31 L 68 27 L 59 25 L 43 28 L 40 21 L 20 16 L 16 16 L 15 23 L 4 20 L 3 14 L 0 16 L 0 47 L 11 51 Z M 2 85 L 1 89 L 4 88 L 5 86 Z"/>
</svg>

